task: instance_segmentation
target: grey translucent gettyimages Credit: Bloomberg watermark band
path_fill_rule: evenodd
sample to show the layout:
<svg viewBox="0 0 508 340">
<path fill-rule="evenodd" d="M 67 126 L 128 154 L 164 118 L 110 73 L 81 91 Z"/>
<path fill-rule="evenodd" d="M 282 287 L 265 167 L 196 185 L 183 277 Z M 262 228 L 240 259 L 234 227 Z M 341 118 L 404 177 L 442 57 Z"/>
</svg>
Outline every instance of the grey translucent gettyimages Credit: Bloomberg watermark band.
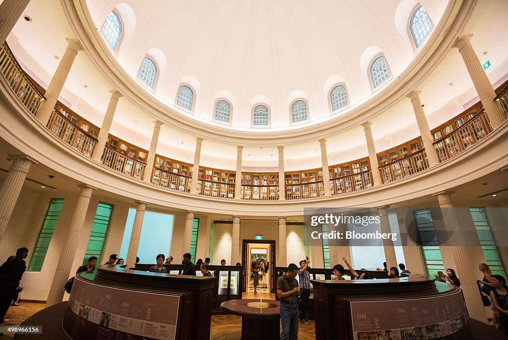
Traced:
<svg viewBox="0 0 508 340">
<path fill-rule="evenodd" d="M 506 221 L 508 208 L 305 209 L 305 245 L 506 246 Z"/>
</svg>

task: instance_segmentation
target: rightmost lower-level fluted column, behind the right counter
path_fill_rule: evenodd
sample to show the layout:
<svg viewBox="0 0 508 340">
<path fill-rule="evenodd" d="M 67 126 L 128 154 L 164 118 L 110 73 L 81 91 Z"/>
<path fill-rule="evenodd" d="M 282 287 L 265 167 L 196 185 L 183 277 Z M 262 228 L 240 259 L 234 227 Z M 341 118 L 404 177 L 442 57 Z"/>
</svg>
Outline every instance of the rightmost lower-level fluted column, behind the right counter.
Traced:
<svg viewBox="0 0 508 340">
<path fill-rule="evenodd" d="M 441 191 L 433 194 L 437 196 L 439 207 L 441 208 L 444 228 L 449 236 L 449 243 L 452 244 L 452 253 L 455 260 L 455 272 L 460 279 L 460 288 L 464 293 L 464 300 L 466 301 L 467 311 L 469 316 L 473 319 L 487 322 L 485 310 L 483 307 L 482 299 L 478 294 L 478 286 L 476 283 L 476 271 L 473 268 L 477 265 L 474 259 L 470 256 L 468 248 L 464 246 L 464 238 L 462 230 L 459 226 L 457 214 L 453 209 L 452 192 Z M 444 268 L 449 268 L 447 263 L 444 263 Z"/>
</svg>

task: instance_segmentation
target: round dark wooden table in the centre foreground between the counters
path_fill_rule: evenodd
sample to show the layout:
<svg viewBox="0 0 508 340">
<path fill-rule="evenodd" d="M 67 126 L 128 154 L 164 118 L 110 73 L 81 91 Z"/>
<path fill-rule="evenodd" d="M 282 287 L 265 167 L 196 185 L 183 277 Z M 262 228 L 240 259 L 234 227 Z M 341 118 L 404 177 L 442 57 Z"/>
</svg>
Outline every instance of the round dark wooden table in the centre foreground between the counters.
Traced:
<svg viewBox="0 0 508 340">
<path fill-rule="evenodd" d="M 280 338 L 279 301 L 267 299 L 229 300 L 220 309 L 242 317 L 242 340 Z"/>
</svg>

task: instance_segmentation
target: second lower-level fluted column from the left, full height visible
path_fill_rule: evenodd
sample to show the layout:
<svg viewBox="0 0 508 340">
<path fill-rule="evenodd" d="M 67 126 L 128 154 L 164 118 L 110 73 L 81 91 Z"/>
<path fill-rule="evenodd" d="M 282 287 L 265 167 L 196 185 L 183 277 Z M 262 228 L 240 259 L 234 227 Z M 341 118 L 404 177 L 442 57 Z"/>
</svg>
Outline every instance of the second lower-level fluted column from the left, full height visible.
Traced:
<svg viewBox="0 0 508 340">
<path fill-rule="evenodd" d="M 72 216 L 71 225 L 67 231 L 65 241 L 63 242 L 63 249 L 60 252 L 60 258 L 56 262 L 56 272 L 53 276 L 53 282 L 49 289 L 48 300 L 46 301 L 46 307 L 62 302 L 63 294 L 67 280 L 71 273 L 71 266 L 73 259 L 76 255 L 76 248 L 78 246 L 79 236 L 83 223 L 85 222 L 86 211 L 88 210 L 88 203 L 90 203 L 90 197 L 92 191 L 97 188 L 88 186 L 87 184 L 80 186 L 81 191 L 79 193 L 78 203 L 74 209 Z"/>
</svg>

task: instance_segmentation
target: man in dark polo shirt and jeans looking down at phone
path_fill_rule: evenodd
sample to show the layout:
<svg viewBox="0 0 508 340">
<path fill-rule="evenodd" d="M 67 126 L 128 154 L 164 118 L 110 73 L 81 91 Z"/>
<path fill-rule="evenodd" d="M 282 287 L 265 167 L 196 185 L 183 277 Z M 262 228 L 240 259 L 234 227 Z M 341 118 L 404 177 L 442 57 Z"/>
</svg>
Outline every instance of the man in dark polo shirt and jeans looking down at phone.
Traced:
<svg viewBox="0 0 508 340">
<path fill-rule="evenodd" d="M 290 263 L 288 271 L 277 279 L 277 297 L 280 299 L 280 339 L 298 339 L 298 296 L 300 287 L 295 277 L 298 267 Z"/>
</svg>

